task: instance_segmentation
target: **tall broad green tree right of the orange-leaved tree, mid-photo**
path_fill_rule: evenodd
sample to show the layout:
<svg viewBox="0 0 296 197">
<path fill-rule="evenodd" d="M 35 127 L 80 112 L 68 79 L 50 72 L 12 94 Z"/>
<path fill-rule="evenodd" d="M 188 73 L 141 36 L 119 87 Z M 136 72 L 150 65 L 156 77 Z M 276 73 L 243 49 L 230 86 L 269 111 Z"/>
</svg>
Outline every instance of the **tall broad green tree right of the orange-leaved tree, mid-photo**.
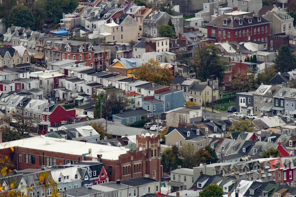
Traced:
<svg viewBox="0 0 296 197">
<path fill-rule="evenodd" d="M 197 79 L 205 82 L 210 75 L 215 75 L 221 83 L 227 63 L 221 60 L 217 46 L 214 44 L 202 46 L 195 53 L 194 60 L 193 68 Z"/>
</svg>

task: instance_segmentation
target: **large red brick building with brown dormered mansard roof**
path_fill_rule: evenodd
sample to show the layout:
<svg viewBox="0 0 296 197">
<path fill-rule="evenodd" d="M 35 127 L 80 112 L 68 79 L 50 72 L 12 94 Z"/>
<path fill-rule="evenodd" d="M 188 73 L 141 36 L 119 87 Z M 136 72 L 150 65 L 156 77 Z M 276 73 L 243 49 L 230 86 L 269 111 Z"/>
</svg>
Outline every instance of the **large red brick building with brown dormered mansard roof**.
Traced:
<svg viewBox="0 0 296 197">
<path fill-rule="evenodd" d="M 223 14 L 207 24 L 208 42 L 267 42 L 270 23 L 271 21 L 254 12 L 235 11 Z"/>
</svg>

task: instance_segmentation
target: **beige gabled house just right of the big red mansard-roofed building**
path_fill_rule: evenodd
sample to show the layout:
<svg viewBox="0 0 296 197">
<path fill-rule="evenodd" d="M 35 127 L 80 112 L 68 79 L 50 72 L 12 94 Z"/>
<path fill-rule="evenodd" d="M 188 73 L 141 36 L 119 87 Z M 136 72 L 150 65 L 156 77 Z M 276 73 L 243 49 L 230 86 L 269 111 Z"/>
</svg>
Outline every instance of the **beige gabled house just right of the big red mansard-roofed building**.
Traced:
<svg viewBox="0 0 296 197">
<path fill-rule="evenodd" d="M 285 11 L 267 11 L 263 18 L 272 21 L 270 24 L 270 34 L 285 33 L 287 35 L 293 34 L 293 21 L 288 12 Z"/>
</svg>

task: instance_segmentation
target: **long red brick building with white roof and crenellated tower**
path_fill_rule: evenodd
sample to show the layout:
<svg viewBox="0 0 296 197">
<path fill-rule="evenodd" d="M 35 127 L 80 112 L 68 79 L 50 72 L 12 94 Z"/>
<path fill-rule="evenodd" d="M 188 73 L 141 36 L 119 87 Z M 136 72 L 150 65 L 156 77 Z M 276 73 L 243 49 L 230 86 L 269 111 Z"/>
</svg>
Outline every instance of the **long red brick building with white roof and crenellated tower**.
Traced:
<svg viewBox="0 0 296 197">
<path fill-rule="evenodd" d="M 109 181 L 144 177 L 145 174 L 156 180 L 162 177 L 159 135 L 136 136 L 136 150 L 45 136 L 4 144 L 7 143 L 0 144 L 1 154 L 7 155 L 17 170 L 65 165 L 72 161 L 81 162 L 85 158 L 88 161 L 101 160 Z"/>
</svg>

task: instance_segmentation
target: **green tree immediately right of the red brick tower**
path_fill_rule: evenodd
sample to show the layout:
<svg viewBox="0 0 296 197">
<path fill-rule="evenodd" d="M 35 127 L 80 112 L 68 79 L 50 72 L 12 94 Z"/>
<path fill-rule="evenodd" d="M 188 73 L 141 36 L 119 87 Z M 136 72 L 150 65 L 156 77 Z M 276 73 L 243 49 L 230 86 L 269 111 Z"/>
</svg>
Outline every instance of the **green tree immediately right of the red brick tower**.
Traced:
<svg viewBox="0 0 296 197">
<path fill-rule="evenodd" d="M 177 168 L 176 155 L 171 148 L 166 148 L 161 155 L 160 164 L 163 165 L 163 171 L 170 174 L 172 170 Z"/>
</svg>

